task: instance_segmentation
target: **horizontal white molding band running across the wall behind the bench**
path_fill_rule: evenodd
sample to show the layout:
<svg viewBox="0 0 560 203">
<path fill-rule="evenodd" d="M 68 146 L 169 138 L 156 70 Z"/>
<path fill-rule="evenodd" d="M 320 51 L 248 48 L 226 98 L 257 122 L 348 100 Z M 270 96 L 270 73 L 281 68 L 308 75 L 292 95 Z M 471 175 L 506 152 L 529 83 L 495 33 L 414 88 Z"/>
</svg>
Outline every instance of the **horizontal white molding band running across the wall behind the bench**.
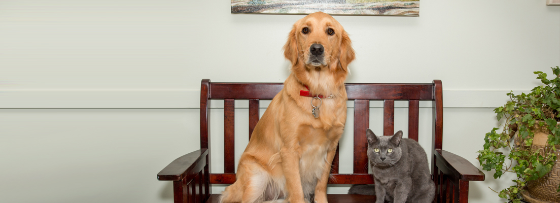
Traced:
<svg viewBox="0 0 560 203">
<path fill-rule="evenodd" d="M 510 90 L 444 90 L 444 108 L 496 108 L 505 104 Z M 528 93 L 516 90 L 514 93 Z M 266 108 L 269 101 L 260 103 Z M 247 108 L 248 102 L 236 101 L 236 108 Z M 212 108 L 223 108 L 223 102 L 211 102 Z M 348 102 L 352 108 L 353 103 Z M 372 102 L 371 108 L 382 108 Z M 395 108 L 407 107 L 395 102 Z M 431 107 L 431 102 L 421 102 Z M 0 108 L 200 108 L 199 90 L 0 90 Z"/>
</svg>

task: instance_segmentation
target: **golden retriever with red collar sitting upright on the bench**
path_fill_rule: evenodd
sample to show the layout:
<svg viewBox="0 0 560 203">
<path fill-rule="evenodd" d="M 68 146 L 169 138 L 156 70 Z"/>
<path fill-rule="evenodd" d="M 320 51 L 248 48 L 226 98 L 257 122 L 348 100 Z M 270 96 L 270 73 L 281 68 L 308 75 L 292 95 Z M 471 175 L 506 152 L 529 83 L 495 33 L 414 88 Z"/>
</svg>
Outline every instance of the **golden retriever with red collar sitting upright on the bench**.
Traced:
<svg viewBox="0 0 560 203">
<path fill-rule="evenodd" d="M 338 21 L 316 12 L 293 25 L 284 56 L 291 61 L 290 76 L 256 124 L 223 203 L 327 202 L 354 50 Z"/>
</svg>

